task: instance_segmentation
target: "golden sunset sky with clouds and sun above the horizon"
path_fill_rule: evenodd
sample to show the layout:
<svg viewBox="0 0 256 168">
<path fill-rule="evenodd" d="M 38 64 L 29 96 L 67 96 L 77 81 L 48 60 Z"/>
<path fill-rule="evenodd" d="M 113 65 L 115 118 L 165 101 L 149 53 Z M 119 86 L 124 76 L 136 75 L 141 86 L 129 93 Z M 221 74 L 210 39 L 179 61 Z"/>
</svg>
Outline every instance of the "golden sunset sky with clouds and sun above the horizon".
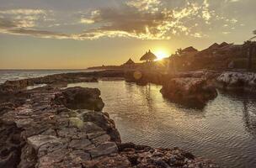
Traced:
<svg viewBox="0 0 256 168">
<path fill-rule="evenodd" d="M 0 0 L 0 69 L 83 69 L 243 44 L 255 0 Z"/>
</svg>

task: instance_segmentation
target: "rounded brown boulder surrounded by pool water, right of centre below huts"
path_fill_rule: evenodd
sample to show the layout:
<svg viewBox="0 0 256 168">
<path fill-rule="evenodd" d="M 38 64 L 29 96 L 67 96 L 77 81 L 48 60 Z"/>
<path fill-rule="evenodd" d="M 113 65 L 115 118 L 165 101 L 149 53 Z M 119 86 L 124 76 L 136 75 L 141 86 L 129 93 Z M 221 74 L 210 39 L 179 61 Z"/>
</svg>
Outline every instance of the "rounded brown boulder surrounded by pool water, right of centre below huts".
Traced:
<svg viewBox="0 0 256 168">
<path fill-rule="evenodd" d="M 205 79 L 201 78 L 173 78 L 163 84 L 163 97 L 173 102 L 192 105 L 205 105 L 217 96 L 216 89 L 210 87 Z"/>
</svg>

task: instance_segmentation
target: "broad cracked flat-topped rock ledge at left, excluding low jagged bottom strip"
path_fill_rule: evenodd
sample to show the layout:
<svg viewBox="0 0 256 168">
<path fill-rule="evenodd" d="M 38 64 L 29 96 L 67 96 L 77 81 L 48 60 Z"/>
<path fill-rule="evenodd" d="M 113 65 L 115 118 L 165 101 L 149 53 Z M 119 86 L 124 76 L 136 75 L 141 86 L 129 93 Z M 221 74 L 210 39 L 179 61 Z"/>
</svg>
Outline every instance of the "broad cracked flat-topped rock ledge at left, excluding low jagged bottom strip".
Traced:
<svg viewBox="0 0 256 168">
<path fill-rule="evenodd" d="M 82 161 L 118 152 L 120 134 L 107 114 L 75 110 L 76 105 L 69 109 L 70 99 L 67 104 L 56 103 L 71 91 L 76 91 L 74 97 L 81 92 L 86 97 L 83 102 L 91 103 L 82 108 L 101 101 L 96 89 L 43 87 L 26 91 L 29 97 L 24 104 L 3 113 L 1 167 L 77 167 Z M 81 107 L 76 98 L 72 103 Z"/>
</svg>

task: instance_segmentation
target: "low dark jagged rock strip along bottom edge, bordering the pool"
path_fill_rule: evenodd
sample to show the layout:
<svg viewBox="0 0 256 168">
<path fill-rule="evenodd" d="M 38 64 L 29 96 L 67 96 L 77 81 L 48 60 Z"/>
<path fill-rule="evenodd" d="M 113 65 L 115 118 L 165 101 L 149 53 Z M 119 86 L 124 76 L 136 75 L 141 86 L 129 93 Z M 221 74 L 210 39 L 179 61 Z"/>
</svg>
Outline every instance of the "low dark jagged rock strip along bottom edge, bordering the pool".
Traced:
<svg viewBox="0 0 256 168">
<path fill-rule="evenodd" d="M 179 148 L 152 149 L 136 144 L 121 144 L 120 155 L 128 158 L 131 167 L 218 167 L 211 162 L 198 160 L 194 155 L 179 150 Z"/>
</svg>

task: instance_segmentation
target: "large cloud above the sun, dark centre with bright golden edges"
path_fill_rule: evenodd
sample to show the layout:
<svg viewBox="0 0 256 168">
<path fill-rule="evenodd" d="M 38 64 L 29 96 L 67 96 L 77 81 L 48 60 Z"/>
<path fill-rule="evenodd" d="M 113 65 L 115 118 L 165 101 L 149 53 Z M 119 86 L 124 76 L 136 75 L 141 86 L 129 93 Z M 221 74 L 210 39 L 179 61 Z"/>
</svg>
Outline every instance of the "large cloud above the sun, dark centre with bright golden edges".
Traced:
<svg viewBox="0 0 256 168">
<path fill-rule="evenodd" d="M 194 35 L 195 26 L 189 20 L 199 24 L 210 24 L 214 11 L 209 3 L 185 3 L 181 8 L 164 8 L 158 0 L 132 0 L 122 8 L 101 8 L 94 10 L 88 18 L 89 23 L 98 24 L 87 29 L 83 35 L 97 39 L 103 36 L 133 37 L 137 39 L 171 39 L 173 34 Z M 196 35 L 198 38 L 205 35 Z"/>
</svg>

